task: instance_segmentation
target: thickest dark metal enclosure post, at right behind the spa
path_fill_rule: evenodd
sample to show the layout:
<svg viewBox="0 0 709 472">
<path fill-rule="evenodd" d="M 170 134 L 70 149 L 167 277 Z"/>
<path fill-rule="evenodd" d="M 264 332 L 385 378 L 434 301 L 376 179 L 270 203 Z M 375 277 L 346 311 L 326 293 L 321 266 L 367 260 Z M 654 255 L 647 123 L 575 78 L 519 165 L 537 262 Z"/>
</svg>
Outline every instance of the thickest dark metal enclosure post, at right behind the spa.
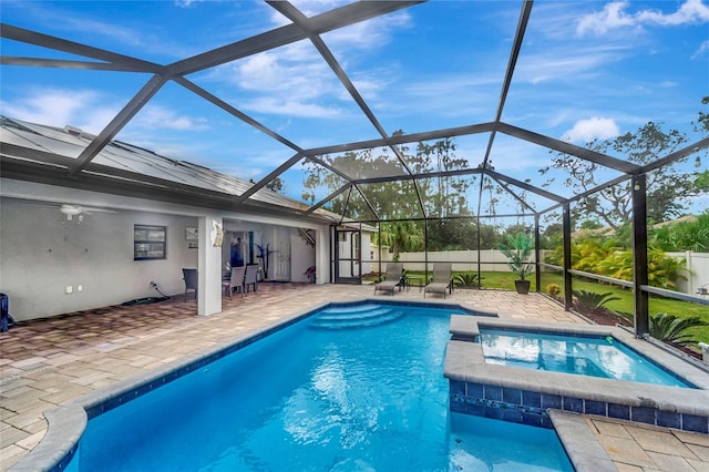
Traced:
<svg viewBox="0 0 709 472">
<path fill-rule="evenodd" d="M 635 336 L 649 332 L 648 294 L 640 288 L 648 284 L 647 274 L 647 178 L 635 175 L 633 185 L 633 296 Z"/>
</svg>

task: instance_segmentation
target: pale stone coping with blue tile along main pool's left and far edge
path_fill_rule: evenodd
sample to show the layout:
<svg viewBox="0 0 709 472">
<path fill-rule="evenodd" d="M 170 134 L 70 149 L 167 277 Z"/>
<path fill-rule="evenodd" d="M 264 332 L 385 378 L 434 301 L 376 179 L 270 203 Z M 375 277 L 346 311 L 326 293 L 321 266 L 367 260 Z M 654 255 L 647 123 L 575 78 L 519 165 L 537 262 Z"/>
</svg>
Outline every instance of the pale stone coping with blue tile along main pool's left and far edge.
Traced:
<svg viewBox="0 0 709 472">
<path fill-rule="evenodd" d="M 135 374 L 112 386 L 86 393 L 64 404 L 43 412 L 48 429 L 44 438 L 24 458 L 12 465 L 13 472 L 63 471 L 73 459 L 79 441 L 88 421 L 110 411 L 120 404 L 141 397 L 192 371 L 199 370 L 209 362 L 228 356 L 249 346 L 278 330 L 285 329 L 315 312 L 330 308 L 361 304 L 422 306 L 431 308 L 450 308 L 481 317 L 496 317 L 496 314 L 474 308 L 470 304 L 446 302 L 440 300 L 386 300 L 381 298 L 362 298 L 348 301 L 328 301 L 306 310 L 294 312 L 259 329 L 245 331 L 242 336 L 228 341 L 215 343 L 192 355 L 187 355 L 164 366 Z"/>
</svg>

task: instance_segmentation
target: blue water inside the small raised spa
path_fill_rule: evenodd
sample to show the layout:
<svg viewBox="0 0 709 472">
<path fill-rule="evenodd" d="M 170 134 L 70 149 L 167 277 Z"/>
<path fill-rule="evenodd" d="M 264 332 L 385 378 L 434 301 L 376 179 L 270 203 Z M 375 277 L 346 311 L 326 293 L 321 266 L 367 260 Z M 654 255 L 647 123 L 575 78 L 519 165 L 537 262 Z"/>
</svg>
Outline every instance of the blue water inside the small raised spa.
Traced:
<svg viewBox="0 0 709 472">
<path fill-rule="evenodd" d="M 485 362 L 671 387 L 693 386 L 614 338 L 480 330 Z"/>
</svg>

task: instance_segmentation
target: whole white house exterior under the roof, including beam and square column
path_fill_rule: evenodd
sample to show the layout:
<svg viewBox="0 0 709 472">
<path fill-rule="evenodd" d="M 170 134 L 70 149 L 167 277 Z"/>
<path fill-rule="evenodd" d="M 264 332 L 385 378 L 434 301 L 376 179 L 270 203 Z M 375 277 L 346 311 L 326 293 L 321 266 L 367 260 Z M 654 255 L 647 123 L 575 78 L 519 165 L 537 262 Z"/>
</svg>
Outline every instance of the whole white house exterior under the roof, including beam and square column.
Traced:
<svg viewBox="0 0 709 472">
<path fill-rule="evenodd" d="M 55 204 L 62 203 L 112 208 L 115 213 L 92 213 L 76 225 L 76 219 L 66 222 L 60 213 Z M 224 220 L 225 229 L 254 230 L 256 240 L 270 243 L 271 248 L 276 238 L 269 237 L 275 227 L 287 236 L 289 244 L 290 232 L 297 232 L 296 228 L 314 229 L 318 242 L 314 250 L 318 281 L 329 280 L 327 225 L 268 215 L 216 213 L 0 178 L 0 293 L 10 299 L 10 314 L 17 320 L 27 320 L 160 296 L 151 281 L 157 283 L 166 295 L 182 296 L 185 287 L 182 268 L 201 268 L 197 311 L 218 312 L 220 271 L 228 255 L 225 259 L 223 248 L 207 247 L 212 244 L 207 223 L 210 225 L 213 220 Z M 167 227 L 166 259 L 133 260 L 135 224 Z M 189 247 L 194 242 L 185 238 L 187 226 L 199 228 L 198 247 Z M 291 273 L 301 274 L 308 266 L 291 267 Z M 65 293 L 69 286 L 71 294 Z"/>
</svg>

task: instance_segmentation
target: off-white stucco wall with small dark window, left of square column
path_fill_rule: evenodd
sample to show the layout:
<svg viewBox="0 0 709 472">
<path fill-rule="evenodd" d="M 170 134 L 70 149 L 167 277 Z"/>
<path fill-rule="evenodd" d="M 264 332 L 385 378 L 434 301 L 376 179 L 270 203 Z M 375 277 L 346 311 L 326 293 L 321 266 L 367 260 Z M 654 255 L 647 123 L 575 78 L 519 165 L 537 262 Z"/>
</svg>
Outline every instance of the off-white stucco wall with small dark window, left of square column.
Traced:
<svg viewBox="0 0 709 472">
<path fill-rule="evenodd" d="M 0 291 L 17 320 L 160 296 L 151 281 L 167 295 L 182 294 L 182 268 L 197 268 L 197 249 L 185 239 L 195 217 L 120 211 L 78 223 L 43 204 L 2 198 L 1 205 Z M 136 224 L 167 227 L 166 259 L 133 260 Z"/>
</svg>

